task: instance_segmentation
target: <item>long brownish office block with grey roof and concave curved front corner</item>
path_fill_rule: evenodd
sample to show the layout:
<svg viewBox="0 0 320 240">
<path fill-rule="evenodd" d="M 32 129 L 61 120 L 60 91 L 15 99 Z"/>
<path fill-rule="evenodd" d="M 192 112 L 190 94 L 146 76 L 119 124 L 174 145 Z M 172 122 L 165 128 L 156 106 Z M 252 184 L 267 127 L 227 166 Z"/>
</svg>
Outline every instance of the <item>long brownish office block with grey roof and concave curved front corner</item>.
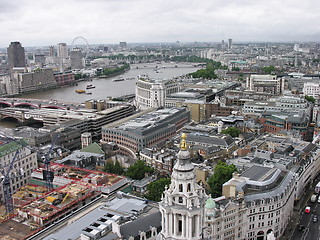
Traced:
<svg viewBox="0 0 320 240">
<path fill-rule="evenodd" d="M 185 108 L 159 109 L 126 123 L 102 127 L 102 141 L 114 142 L 124 154 L 135 156 L 143 148 L 163 144 L 189 119 L 189 111 Z"/>
</svg>

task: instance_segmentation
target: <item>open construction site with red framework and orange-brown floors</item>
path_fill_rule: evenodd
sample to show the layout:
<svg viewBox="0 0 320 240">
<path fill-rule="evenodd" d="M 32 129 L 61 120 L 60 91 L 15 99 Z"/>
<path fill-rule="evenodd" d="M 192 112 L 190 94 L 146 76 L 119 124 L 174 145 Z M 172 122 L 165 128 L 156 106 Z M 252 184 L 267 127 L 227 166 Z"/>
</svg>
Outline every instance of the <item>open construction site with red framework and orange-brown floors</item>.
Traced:
<svg viewBox="0 0 320 240">
<path fill-rule="evenodd" d="M 0 239 L 27 239 L 36 232 L 127 184 L 123 176 L 51 163 L 53 190 L 43 180 L 43 169 L 13 194 L 14 214 L 0 218 Z M 15 231 L 16 229 L 16 231 Z"/>
</svg>

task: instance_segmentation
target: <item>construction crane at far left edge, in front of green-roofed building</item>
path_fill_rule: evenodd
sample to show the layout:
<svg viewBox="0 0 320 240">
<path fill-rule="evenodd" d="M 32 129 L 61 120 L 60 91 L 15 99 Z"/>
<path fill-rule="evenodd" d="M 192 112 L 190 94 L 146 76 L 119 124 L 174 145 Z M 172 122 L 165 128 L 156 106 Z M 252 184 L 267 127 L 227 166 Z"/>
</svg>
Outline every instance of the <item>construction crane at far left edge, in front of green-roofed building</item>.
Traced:
<svg viewBox="0 0 320 240">
<path fill-rule="evenodd" d="M 18 177 L 17 175 L 12 176 L 11 170 L 13 169 L 14 162 L 17 159 L 19 153 L 20 153 L 20 150 L 17 150 L 7 169 L 5 169 L 5 167 L 2 167 L 0 169 L 0 171 L 2 173 L 1 178 L 3 179 L 3 195 L 4 195 L 4 202 L 5 202 L 5 206 L 6 206 L 6 214 L 7 215 L 13 213 L 13 199 L 12 199 L 10 180 L 12 178 Z M 20 174 L 21 175 L 23 174 L 22 169 L 21 169 Z"/>
</svg>

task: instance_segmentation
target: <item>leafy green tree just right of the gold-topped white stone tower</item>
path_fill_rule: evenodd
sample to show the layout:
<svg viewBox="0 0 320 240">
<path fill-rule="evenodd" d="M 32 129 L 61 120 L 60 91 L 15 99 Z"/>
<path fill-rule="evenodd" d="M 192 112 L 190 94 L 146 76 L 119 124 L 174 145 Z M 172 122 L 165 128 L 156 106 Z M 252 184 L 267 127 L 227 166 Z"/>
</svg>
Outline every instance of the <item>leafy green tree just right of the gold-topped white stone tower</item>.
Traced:
<svg viewBox="0 0 320 240">
<path fill-rule="evenodd" d="M 236 172 L 236 167 L 219 161 L 214 169 L 213 175 L 208 180 L 210 193 L 212 197 L 220 197 L 222 195 L 222 185 L 232 178 L 232 173 Z"/>
</svg>

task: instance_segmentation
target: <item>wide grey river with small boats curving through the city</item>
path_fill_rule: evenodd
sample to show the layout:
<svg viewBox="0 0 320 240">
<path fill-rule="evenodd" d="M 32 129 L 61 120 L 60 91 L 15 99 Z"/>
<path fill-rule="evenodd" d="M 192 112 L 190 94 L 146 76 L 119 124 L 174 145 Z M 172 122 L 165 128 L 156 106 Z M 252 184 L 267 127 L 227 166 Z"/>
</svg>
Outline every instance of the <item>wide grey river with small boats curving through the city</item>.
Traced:
<svg viewBox="0 0 320 240">
<path fill-rule="evenodd" d="M 59 102 L 84 103 L 90 99 L 107 99 L 135 93 L 135 83 L 138 75 L 147 74 L 151 79 L 171 79 L 191 72 L 199 67 L 192 63 L 144 63 L 132 64 L 131 69 L 121 75 L 108 78 L 93 78 L 92 81 L 78 82 L 77 86 L 68 86 L 30 94 L 23 94 L 19 98 L 57 100 Z M 115 78 L 124 78 L 124 81 L 114 82 Z M 88 84 L 95 88 L 86 90 L 92 94 L 78 94 L 75 90 L 86 89 Z"/>
</svg>

